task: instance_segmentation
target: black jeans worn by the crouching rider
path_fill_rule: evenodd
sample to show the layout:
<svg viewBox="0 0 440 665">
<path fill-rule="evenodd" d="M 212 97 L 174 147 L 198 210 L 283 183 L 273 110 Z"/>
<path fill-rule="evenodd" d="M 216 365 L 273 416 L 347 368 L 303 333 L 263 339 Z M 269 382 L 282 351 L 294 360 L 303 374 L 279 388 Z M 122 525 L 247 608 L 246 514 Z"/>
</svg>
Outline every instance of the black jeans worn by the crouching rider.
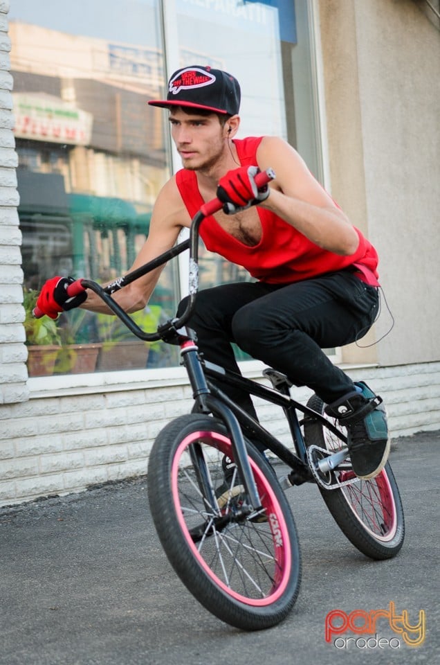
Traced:
<svg viewBox="0 0 440 665">
<path fill-rule="evenodd" d="M 354 390 L 354 384 L 322 348 L 363 337 L 377 311 L 378 290 L 342 270 L 288 285 L 244 282 L 202 290 L 188 325 L 196 330 L 206 360 L 238 372 L 230 346 L 235 342 L 329 404 Z M 222 389 L 255 414 L 249 396 Z"/>
</svg>

